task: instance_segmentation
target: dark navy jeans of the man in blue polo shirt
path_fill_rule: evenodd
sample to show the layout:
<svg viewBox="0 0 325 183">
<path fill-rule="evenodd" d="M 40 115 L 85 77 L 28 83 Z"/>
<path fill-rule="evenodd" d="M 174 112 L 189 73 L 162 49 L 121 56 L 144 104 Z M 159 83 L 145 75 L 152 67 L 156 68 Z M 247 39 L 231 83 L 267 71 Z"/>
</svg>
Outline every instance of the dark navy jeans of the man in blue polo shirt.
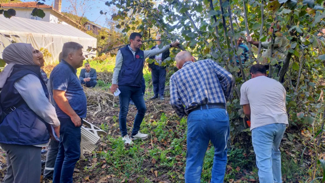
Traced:
<svg viewBox="0 0 325 183">
<path fill-rule="evenodd" d="M 53 183 L 72 183 L 74 166 L 80 158 L 81 126 L 75 127 L 70 118 L 59 118 L 59 121 L 60 143 Z"/>
</svg>

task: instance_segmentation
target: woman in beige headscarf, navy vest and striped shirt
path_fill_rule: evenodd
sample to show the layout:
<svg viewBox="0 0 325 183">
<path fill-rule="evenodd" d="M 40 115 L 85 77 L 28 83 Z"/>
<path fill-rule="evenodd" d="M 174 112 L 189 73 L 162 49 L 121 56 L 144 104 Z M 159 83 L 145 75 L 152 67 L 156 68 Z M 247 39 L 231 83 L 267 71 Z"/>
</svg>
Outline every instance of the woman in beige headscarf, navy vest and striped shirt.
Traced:
<svg viewBox="0 0 325 183">
<path fill-rule="evenodd" d="M 50 125 L 59 136 L 60 122 L 49 102 L 39 55 L 32 45 L 10 44 L 2 58 L 8 64 L 0 72 L 0 146 L 8 164 L 4 183 L 37 183 L 41 149 L 52 133 Z"/>
</svg>

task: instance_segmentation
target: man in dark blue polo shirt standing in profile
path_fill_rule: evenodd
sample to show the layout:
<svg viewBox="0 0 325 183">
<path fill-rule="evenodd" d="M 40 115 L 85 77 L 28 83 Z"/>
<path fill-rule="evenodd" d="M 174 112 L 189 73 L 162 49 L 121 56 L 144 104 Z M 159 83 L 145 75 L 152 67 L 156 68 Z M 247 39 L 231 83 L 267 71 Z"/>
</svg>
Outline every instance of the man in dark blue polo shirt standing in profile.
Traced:
<svg viewBox="0 0 325 183">
<path fill-rule="evenodd" d="M 53 183 L 72 183 L 74 166 L 80 158 L 82 118 L 87 113 L 86 95 L 76 75 L 76 69 L 82 67 L 85 59 L 82 48 L 75 42 L 63 45 L 62 60 L 51 72 L 47 84 L 61 122 Z"/>
</svg>

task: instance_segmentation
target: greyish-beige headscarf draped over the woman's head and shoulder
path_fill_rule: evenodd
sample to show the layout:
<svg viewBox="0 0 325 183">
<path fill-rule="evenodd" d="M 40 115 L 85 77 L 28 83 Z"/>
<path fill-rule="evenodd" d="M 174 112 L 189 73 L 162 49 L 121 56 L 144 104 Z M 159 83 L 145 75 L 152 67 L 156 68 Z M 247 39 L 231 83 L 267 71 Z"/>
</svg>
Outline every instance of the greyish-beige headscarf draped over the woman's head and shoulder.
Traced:
<svg viewBox="0 0 325 183">
<path fill-rule="evenodd" d="M 4 59 L 8 65 L 0 72 L 0 88 L 5 85 L 15 64 L 35 65 L 33 61 L 33 49 L 31 44 L 12 43 L 3 50 L 2 59 Z"/>
</svg>

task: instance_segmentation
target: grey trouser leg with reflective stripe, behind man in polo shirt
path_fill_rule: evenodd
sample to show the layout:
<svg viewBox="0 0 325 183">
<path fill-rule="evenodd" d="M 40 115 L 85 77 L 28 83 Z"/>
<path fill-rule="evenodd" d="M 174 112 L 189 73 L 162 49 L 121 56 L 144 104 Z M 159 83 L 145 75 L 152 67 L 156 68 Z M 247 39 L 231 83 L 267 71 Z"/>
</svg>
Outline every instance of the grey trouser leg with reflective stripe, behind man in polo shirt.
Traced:
<svg viewBox="0 0 325 183">
<path fill-rule="evenodd" d="M 47 147 L 46 162 L 43 174 L 44 178 L 51 179 L 53 177 L 54 164 L 55 160 L 57 159 L 58 152 L 59 142 L 54 139 L 50 139 L 50 143 Z"/>
</svg>

